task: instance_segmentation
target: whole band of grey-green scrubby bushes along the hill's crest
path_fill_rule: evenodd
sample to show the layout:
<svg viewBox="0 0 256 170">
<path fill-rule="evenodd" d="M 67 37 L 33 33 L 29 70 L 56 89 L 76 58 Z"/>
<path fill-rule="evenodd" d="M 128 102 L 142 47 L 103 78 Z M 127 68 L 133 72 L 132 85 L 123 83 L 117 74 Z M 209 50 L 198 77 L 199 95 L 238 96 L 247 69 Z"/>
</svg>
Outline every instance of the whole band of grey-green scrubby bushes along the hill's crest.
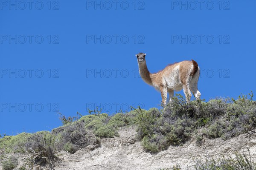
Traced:
<svg viewBox="0 0 256 170">
<path fill-rule="evenodd" d="M 129 125 L 136 126 L 137 138 L 151 153 L 165 150 L 170 145 L 183 144 L 192 137 L 195 137 L 197 145 L 202 144 L 204 137 L 226 140 L 256 128 L 256 101 L 252 100 L 252 93 L 249 96 L 242 95 L 237 100 L 218 98 L 209 102 L 186 103 L 182 96 L 176 95 L 172 103 L 161 109 L 146 111 L 137 108 L 112 116 L 98 109 L 89 110 L 90 114 L 86 116 L 77 113 L 76 117 L 66 118 L 60 114 L 63 126 L 51 133 L 42 131 L 4 136 L 0 139 L 0 152 L 32 153 L 32 165 L 53 167 L 59 161 L 56 150 L 75 153 L 87 146 L 93 150 L 100 145 L 101 138 L 119 136 L 118 129 Z M 211 164 L 212 160 L 208 163 Z M 173 168 L 178 170 L 180 167 Z"/>
</svg>

